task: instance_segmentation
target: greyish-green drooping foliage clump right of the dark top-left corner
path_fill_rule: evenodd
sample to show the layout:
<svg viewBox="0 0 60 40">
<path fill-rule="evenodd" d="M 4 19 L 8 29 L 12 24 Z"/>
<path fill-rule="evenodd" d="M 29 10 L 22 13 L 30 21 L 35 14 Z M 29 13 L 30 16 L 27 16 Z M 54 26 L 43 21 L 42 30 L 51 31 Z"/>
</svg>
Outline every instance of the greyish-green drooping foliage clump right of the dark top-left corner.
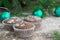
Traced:
<svg viewBox="0 0 60 40">
<path fill-rule="evenodd" d="M 12 7 L 12 14 L 19 15 L 21 13 L 22 8 L 18 0 L 12 0 Z"/>
</svg>

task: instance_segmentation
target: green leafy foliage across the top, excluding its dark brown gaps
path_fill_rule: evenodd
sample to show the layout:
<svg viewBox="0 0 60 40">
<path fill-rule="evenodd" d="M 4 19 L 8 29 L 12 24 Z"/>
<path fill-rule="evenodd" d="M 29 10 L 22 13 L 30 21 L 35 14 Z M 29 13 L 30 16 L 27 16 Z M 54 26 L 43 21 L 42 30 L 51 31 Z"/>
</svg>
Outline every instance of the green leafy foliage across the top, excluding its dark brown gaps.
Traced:
<svg viewBox="0 0 60 40">
<path fill-rule="evenodd" d="M 59 7 L 60 4 L 58 4 L 58 2 L 60 2 L 60 0 L 22 0 L 22 3 L 27 5 L 22 8 L 19 0 L 12 0 L 12 2 L 9 2 L 9 0 L 0 0 L 0 7 L 3 4 L 15 15 L 21 13 L 22 10 L 34 11 L 35 9 L 48 9 L 49 14 L 52 14 L 53 10 L 50 9 Z"/>
</svg>

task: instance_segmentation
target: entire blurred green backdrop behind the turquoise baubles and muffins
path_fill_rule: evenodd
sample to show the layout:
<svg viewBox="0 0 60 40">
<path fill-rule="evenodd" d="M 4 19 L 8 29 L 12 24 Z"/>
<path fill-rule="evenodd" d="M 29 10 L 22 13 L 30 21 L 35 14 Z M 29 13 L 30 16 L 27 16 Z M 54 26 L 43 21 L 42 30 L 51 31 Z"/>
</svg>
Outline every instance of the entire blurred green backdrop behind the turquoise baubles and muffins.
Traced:
<svg viewBox="0 0 60 40">
<path fill-rule="evenodd" d="M 30 14 L 41 9 L 44 16 L 53 15 L 56 7 L 60 7 L 60 0 L 0 0 L 0 7 L 6 7 L 12 15 Z"/>
</svg>

